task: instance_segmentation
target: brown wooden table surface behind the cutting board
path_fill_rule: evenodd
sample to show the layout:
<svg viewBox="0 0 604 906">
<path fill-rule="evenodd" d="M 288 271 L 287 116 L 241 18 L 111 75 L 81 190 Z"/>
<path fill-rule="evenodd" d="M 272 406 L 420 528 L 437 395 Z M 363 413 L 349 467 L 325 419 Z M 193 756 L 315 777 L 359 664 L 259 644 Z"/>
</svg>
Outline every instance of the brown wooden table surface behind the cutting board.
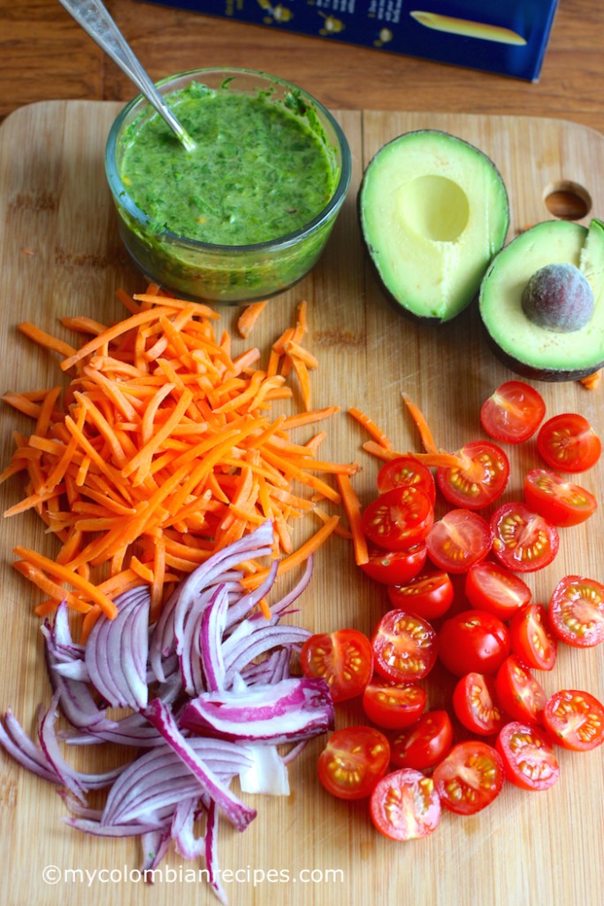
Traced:
<svg viewBox="0 0 604 906">
<path fill-rule="evenodd" d="M 106 5 L 154 79 L 202 65 L 251 66 L 336 109 L 555 116 L 604 131 L 599 0 L 561 0 L 537 84 L 137 0 Z M 0 49 L 0 117 L 32 101 L 133 94 L 57 0 L 0 0 Z"/>
</svg>

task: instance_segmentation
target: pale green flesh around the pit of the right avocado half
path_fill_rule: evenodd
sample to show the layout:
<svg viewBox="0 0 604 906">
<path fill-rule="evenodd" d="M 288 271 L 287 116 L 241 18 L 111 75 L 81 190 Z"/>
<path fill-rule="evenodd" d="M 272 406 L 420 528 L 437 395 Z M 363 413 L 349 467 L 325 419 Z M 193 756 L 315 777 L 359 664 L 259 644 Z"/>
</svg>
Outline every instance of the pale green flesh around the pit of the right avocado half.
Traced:
<svg viewBox="0 0 604 906">
<path fill-rule="evenodd" d="M 579 267 L 590 282 L 594 310 L 578 331 L 557 333 L 533 324 L 523 312 L 524 286 L 545 265 Z M 592 221 L 553 220 L 517 236 L 484 276 L 480 313 L 496 346 L 511 360 L 537 371 L 589 373 L 604 361 L 604 229 Z M 526 373 L 526 371 L 524 371 Z"/>
</svg>

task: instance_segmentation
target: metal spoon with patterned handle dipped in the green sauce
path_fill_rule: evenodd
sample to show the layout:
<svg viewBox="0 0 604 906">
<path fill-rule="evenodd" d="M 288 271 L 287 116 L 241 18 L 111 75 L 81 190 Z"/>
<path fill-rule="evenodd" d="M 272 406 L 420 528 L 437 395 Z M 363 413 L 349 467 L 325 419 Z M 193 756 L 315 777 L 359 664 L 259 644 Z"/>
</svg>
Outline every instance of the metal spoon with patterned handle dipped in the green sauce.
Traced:
<svg viewBox="0 0 604 906">
<path fill-rule="evenodd" d="M 72 14 L 83 30 L 90 34 L 92 40 L 96 41 L 111 60 L 120 66 L 122 72 L 125 72 L 134 82 L 139 92 L 166 120 L 183 147 L 187 151 L 195 149 L 195 142 L 151 82 L 148 73 L 140 65 L 129 43 L 121 34 L 105 6 L 102 5 L 101 0 L 59 0 L 59 3 L 68 13 Z"/>
</svg>

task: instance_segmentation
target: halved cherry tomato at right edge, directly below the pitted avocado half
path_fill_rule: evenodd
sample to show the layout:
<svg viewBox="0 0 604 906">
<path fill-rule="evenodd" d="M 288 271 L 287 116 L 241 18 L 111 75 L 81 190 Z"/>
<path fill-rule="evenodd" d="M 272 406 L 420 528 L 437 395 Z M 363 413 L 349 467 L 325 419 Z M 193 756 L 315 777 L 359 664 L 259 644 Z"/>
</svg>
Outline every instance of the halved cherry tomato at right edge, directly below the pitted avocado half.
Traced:
<svg viewBox="0 0 604 906">
<path fill-rule="evenodd" d="M 601 441 L 582 415 L 564 412 L 542 425 L 537 450 L 551 468 L 561 472 L 584 472 L 599 460 Z"/>
</svg>

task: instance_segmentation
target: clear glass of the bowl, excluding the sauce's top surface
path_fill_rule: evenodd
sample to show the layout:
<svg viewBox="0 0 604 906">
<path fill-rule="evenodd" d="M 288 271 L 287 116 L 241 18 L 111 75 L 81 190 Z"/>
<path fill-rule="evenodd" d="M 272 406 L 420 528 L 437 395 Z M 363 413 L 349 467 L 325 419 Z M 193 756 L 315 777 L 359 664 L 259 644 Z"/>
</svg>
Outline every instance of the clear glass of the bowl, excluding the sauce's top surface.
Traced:
<svg viewBox="0 0 604 906">
<path fill-rule="evenodd" d="M 317 153 L 329 161 L 331 198 L 310 222 L 287 235 L 253 245 L 213 245 L 170 232 L 154 222 L 129 195 L 121 163 L 142 124 L 158 114 L 138 96 L 120 112 L 110 129 L 105 150 L 105 171 L 118 212 L 120 236 L 139 269 L 153 282 L 190 299 L 244 303 L 283 292 L 316 264 L 331 233 L 350 185 L 350 148 L 339 124 L 321 103 L 291 82 L 265 72 L 246 69 L 198 69 L 158 82 L 168 95 L 192 83 L 201 92 L 244 94 L 279 105 L 314 136 Z M 206 92 L 207 94 L 207 92 Z M 172 99 L 178 115 L 177 95 Z M 174 153 L 186 154 L 174 139 Z M 324 164 L 324 160 L 323 160 Z M 158 180 L 169 180 L 162 173 Z M 203 186 L 200 187 L 200 195 Z M 262 201 L 262 199 L 261 199 Z M 260 202 L 259 202 L 260 203 Z M 260 215 L 262 217 L 262 215 Z"/>
</svg>

